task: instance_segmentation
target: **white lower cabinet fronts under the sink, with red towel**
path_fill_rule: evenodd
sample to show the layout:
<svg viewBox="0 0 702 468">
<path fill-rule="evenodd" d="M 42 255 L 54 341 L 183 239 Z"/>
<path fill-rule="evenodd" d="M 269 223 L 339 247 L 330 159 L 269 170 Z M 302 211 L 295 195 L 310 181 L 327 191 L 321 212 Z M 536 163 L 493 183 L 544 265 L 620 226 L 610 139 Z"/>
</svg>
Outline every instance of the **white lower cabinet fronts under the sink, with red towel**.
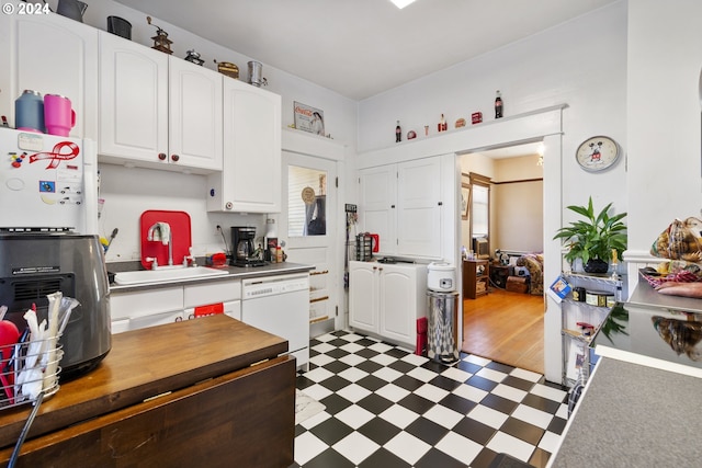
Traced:
<svg viewBox="0 0 702 468">
<path fill-rule="evenodd" d="M 222 304 L 229 317 L 241 320 L 241 281 L 220 281 L 110 294 L 112 333 L 195 318 L 196 309 Z M 218 308 L 217 308 L 218 309 Z"/>
</svg>

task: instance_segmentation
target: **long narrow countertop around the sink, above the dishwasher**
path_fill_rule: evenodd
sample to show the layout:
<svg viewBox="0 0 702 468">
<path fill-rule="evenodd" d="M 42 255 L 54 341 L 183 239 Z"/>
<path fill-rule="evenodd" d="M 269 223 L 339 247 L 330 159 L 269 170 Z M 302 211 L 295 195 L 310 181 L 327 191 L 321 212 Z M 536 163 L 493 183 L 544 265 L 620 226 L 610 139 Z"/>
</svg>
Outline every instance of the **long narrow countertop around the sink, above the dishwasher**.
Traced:
<svg viewBox="0 0 702 468">
<path fill-rule="evenodd" d="M 110 292 L 126 293 L 132 290 L 169 287 L 178 284 L 212 283 L 217 281 L 231 281 L 231 279 L 245 279 L 245 278 L 274 276 L 274 275 L 285 275 L 285 274 L 292 274 L 292 273 L 309 272 L 310 270 L 314 270 L 314 269 L 315 269 L 314 265 L 307 265 L 303 263 L 292 263 L 292 262 L 270 263 L 268 265 L 248 266 L 248 267 L 224 266 L 217 270 L 226 270 L 228 272 L 228 274 L 226 275 L 179 279 L 179 281 L 172 281 L 168 283 L 143 283 L 138 285 L 118 285 L 113 283 L 113 284 L 110 284 Z M 112 273 L 120 273 L 120 272 L 133 271 L 133 270 L 140 270 L 140 265 L 138 262 L 121 262 L 121 263 L 107 264 L 107 271 Z"/>
</svg>

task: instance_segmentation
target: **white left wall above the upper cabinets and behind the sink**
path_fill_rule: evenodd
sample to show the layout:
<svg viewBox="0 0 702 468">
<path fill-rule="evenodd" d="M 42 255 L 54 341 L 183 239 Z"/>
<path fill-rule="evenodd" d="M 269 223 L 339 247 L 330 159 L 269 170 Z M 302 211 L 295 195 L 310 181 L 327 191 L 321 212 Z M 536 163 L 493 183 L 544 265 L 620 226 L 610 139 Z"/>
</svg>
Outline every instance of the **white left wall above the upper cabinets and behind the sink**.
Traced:
<svg viewBox="0 0 702 468">
<path fill-rule="evenodd" d="M 49 0 L 55 8 L 57 0 Z M 83 22 L 100 30 L 106 30 L 106 18 L 116 15 L 132 23 L 132 41 L 150 47 L 156 28 L 146 21 L 147 12 L 139 12 L 112 0 L 91 0 L 86 10 Z M 146 7 L 145 7 L 146 8 Z M 207 8 L 203 4 L 203 8 Z M 247 62 L 256 57 L 247 57 L 236 50 L 214 44 L 188 31 L 152 18 L 152 23 L 168 32 L 173 41 L 174 57 L 184 58 L 186 50 L 194 48 L 205 60 L 204 67 L 216 70 L 217 61 L 231 61 L 239 67 L 239 77 L 247 79 Z M 293 123 L 293 101 L 303 102 L 321 109 L 325 112 L 326 130 L 336 142 L 346 144 L 346 164 L 351 170 L 342 174 L 341 187 L 350 186 L 354 178 L 353 158 L 356 139 L 356 103 L 338 93 L 329 91 L 309 81 L 292 76 L 263 64 L 263 77 L 268 79 L 267 90 L 281 94 L 283 101 L 282 124 L 284 127 Z M 310 138 L 319 138 L 309 136 Z M 262 169 L 263 170 L 263 169 Z M 115 227 L 120 229 L 117 238 L 107 252 L 107 261 L 125 261 L 139 259 L 138 221 L 145 209 L 185 210 L 192 220 L 192 239 L 194 253 L 224 249 L 224 242 L 214 227 L 219 224 L 225 228 L 229 241 L 229 226 L 251 225 L 263 233 L 263 215 L 208 214 L 205 210 L 206 184 L 201 175 L 184 175 L 174 172 L 147 169 L 125 169 L 118 165 L 101 164 L 101 196 L 105 198 L 103 217 L 100 220 L 101 233 L 110 235 Z M 355 184 L 351 185 L 355 186 Z M 342 192 L 341 202 L 354 203 Z M 338 232 L 343 232 L 343 217 L 339 217 Z M 343 238 L 339 237 L 339 244 Z"/>
</svg>

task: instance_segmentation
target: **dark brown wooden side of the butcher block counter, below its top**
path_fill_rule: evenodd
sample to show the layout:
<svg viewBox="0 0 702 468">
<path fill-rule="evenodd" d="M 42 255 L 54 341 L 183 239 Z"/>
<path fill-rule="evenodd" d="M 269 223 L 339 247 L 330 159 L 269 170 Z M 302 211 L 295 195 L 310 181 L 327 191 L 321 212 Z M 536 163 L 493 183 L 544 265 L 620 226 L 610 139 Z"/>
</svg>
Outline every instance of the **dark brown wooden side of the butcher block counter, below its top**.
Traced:
<svg viewBox="0 0 702 468">
<path fill-rule="evenodd" d="M 294 432 L 285 356 L 27 441 L 16 466 L 288 467 Z"/>
</svg>

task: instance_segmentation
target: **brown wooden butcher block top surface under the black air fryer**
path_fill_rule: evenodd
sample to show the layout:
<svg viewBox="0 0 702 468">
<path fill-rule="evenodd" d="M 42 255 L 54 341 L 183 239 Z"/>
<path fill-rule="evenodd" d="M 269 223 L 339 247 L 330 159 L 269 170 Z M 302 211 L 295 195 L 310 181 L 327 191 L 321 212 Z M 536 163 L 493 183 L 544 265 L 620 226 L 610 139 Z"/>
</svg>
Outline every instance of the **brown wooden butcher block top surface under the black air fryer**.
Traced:
<svg viewBox="0 0 702 468">
<path fill-rule="evenodd" d="M 247 368 L 286 351 L 287 341 L 282 338 L 225 315 L 118 333 L 95 369 L 61 381 L 59 391 L 43 402 L 30 436 Z M 31 408 L 0 411 L 0 447 L 14 444 Z"/>
</svg>

